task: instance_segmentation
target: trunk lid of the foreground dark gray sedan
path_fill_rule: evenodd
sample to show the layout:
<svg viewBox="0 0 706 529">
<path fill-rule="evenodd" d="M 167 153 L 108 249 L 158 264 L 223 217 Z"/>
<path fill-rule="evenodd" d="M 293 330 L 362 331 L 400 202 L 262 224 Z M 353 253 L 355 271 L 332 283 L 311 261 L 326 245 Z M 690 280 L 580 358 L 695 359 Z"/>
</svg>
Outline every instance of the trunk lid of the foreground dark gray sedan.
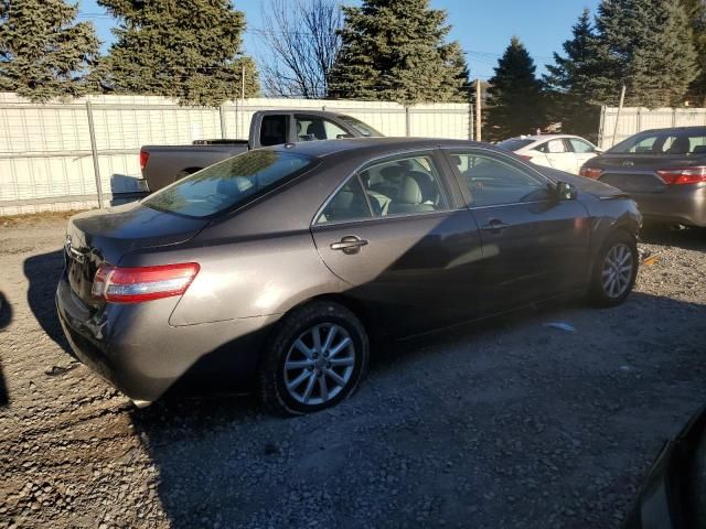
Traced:
<svg viewBox="0 0 706 529">
<path fill-rule="evenodd" d="M 97 309 L 103 302 L 90 295 L 90 289 L 100 264 L 118 264 L 135 250 L 184 242 L 206 224 L 207 219 L 162 213 L 139 203 L 75 215 L 68 220 L 64 244 L 71 289 Z"/>
</svg>

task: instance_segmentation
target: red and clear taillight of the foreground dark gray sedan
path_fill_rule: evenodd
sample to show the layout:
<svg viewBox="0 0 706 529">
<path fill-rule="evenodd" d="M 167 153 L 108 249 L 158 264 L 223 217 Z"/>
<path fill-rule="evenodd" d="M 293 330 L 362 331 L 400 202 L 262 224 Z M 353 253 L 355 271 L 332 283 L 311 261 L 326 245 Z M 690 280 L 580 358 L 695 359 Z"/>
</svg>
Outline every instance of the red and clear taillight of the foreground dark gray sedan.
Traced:
<svg viewBox="0 0 706 529">
<path fill-rule="evenodd" d="M 199 270 L 195 262 L 139 268 L 100 267 L 90 293 L 109 303 L 141 303 L 182 295 Z"/>
</svg>

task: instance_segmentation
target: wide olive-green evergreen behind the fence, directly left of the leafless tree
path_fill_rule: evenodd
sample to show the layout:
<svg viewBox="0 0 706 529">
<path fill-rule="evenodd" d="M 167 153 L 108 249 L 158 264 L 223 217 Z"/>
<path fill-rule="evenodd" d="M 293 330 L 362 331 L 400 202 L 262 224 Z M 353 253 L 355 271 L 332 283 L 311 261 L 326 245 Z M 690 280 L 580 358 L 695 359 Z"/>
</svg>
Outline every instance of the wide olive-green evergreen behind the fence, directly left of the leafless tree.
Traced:
<svg viewBox="0 0 706 529">
<path fill-rule="evenodd" d="M 245 18 L 228 0 L 98 0 L 119 21 L 104 67 L 117 94 L 217 106 L 258 94 L 255 63 L 242 54 Z"/>
</svg>

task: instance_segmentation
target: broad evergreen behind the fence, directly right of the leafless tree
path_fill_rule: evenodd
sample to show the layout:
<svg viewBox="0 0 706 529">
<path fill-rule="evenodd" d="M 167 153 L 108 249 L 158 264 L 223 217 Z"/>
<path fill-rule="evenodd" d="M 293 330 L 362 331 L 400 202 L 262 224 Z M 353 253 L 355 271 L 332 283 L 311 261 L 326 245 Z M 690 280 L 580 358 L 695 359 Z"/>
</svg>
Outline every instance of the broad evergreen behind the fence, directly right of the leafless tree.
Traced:
<svg viewBox="0 0 706 529">
<path fill-rule="evenodd" d="M 402 104 L 468 100 L 458 43 L 429 0 L 363 0 L 343 8 L 343 45 L 330 74 L 335 98 Z"/>
</svg>

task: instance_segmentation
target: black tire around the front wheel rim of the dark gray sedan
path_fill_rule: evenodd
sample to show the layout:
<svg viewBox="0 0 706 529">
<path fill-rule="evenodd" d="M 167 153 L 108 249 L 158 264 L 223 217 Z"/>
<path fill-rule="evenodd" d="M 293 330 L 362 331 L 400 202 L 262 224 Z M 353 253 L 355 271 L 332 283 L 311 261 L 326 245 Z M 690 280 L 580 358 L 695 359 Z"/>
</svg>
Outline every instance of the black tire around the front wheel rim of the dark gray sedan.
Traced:
<svg viewBox="0 0 706 529">
<path fill-rule="evenodd" d="M 620 293 L 614 292 L 611 294 L 603 287 L 603 271 L 607 267 L 607 258 L 609 253 L 612 249 L 619 248 L 627 248 L 629 250 L 632 259 L 632 271 L 630 272 L 624 291 L 621 290 Z M 638 242 L 635 237 L 623 230 L 618 230 L 611 234 L 608 239 L 606 239 L 606 242 L 598 252 L 596 262 L 593 263 L 591 282 L 588 289 L 588 300 L 590 304 L 598 307 L 608 307 L 623 303 L 632 292 L 635 284 L 639 267 L 640 255 L 638 252 Z"/>
</svg>

